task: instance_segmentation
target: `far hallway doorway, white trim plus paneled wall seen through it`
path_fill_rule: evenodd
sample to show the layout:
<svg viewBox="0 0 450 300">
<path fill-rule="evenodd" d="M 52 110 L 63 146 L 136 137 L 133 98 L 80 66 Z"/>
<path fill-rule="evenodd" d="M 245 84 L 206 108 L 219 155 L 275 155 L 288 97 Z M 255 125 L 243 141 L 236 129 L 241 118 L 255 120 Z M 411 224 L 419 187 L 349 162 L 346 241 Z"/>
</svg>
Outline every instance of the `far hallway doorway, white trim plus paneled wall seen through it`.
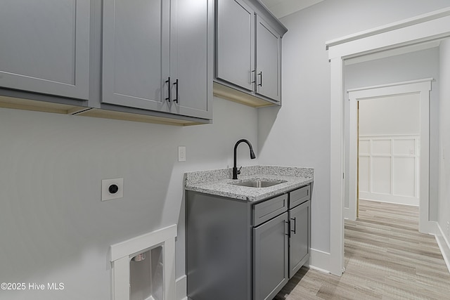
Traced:
<svg viewBox="0 0 450 300">
<path fill-rule="evenodd" d="M 349 188 L 346 219 L 356 220 L 358 199 L 362 194 L 381 202 L 418 205 L 421 212 L 419 224 L 428 222 L 431 81 L 422 79 L 348 91 Z M 393 101 L 397 101 L 396 105 L 393 105 Z M 378 119 L 373 122 L 361 120 L 364 126 L 360 127 L 359 104 L 388 108 L 390 112 L 385 112 L 382 122 Z M 397 122 L 395 115 L 401 113 L 402 109 L 403 118 Z M 375 118 L 379 117 L 375 115 Z M 416 118 L 419 122 L 415 122 Z M 381 129 L 366 128 L 371 124 L 378 124 Z M 358 129 L 362 129 L 362 133 L 375 134 L 366 134 L 358 143 Z M 419 170 L 422 171 L 420 176 Z M 366 172 L 368 181 L 359 181 L 359 171 Z M 364 177 L 364 173 L 361 176 Z"/>
</svg>

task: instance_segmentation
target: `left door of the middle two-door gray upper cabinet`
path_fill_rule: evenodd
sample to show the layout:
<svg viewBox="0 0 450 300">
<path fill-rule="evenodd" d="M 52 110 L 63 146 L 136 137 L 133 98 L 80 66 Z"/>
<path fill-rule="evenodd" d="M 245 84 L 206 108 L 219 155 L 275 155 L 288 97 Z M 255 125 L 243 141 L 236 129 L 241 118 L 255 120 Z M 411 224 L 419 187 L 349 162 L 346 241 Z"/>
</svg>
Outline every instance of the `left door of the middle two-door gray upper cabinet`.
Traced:
<svg viewBox="0 0 450 300">
<path fill-rule="evenodd" d="M 169 13 L 165 0 L 103 1 L 102 103 L 168 110 Z"/>
</svg>

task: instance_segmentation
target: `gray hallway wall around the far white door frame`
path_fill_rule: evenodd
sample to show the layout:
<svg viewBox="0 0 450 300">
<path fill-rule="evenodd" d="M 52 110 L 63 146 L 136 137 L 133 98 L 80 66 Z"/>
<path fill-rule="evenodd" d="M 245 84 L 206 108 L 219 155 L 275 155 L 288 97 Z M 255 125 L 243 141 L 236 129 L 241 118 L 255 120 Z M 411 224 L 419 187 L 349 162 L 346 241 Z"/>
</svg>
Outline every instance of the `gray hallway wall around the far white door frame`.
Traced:
<svg viewBox="0 0 450 300">
<path fill-rule="evenodd" d="M 433 78 L 430 91 L 430 219 L 437 220 L 439 176 L 439 48 L 391 56 L 345 67 L 345 90 L 414 79 Z M 346 94 L 348 99 L 348 94 Z M 348 101 L 345 102 L 348 104 Z M 345 112 L 349 112 L 346 105 Z M 345 118 L 345 128 L 349 120 Z M 348 133 L 348 130 L 345 131 Z M 348 137 L 346 136 L 347 141 Z M 348 151 L 346 159 L 348 161 Z M 348 166 L 347 166 L 348 167 Z M 348 173 L 348 169 L 346 170 Z M 348 186 L 348 182 L 346 182 Z M 345 197 L 348 207 L 348 197 Z"/>
</svg>

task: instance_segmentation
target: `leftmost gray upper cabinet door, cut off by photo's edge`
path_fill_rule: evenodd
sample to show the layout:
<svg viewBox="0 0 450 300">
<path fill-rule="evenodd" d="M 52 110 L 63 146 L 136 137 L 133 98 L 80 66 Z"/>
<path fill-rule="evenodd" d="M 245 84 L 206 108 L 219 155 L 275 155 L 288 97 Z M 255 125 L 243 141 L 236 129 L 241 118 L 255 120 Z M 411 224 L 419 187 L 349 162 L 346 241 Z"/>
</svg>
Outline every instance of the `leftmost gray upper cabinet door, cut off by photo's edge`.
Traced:
<svg viewBox="0 0 450 300">
<path fill-rule="evenodd" d="M 0 86 L 89 98 L 89 0 L 1 0 Z"/>
</svg>

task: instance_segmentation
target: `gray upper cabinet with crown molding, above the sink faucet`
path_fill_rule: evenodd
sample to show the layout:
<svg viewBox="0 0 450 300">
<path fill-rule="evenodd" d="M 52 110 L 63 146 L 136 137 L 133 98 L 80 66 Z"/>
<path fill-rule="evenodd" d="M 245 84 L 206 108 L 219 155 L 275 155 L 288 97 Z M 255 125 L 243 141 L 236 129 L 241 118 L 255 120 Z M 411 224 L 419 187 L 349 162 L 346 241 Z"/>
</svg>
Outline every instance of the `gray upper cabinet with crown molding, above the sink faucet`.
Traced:
<svg viewBox="0 0 450 300">
<path fill-rule="evenodd" d="M 214 94 L 281 105 L 281 39 L 287 29 L 258 0 L 216 0 Z"/>
</svg>

